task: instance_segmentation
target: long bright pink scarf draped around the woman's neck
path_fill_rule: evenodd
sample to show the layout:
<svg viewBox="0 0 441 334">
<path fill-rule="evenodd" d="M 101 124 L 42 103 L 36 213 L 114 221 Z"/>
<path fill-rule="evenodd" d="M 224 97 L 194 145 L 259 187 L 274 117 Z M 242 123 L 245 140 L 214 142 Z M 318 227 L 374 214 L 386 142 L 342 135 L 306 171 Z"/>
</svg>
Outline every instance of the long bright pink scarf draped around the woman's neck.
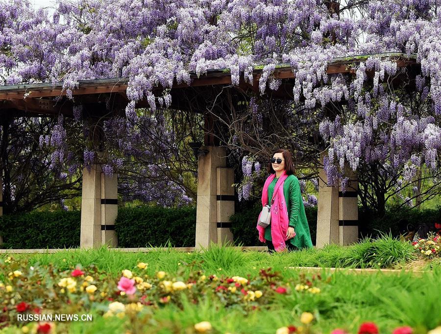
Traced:
<svg viewBox="0 0 441 334">
<path fill-rule="evenodd" d="M 272 244 L 274 245 L 274 249 L 276 252 L 283 252 L 286 248 L 286 232 L 288 230 L 288 224 L 290 221 L 288 217 L 288 208 L 286 207 L 285 202 L 285 195 L 283 194 L 283 183 L 285 182 L 285 179 L 287 177 L 288 175 L 284 171 L 279 180 L 277 180 L 271 200 L 272 205 L 270 228 Z M 266 206 L 268 204 L 268 187 L 270 186 L 270 183 L 272 182 L 272 180 L 274 180 L 274 178 L 275 174 L 271 174 L 265 181 L 262 192 L 262 206 Z M 257 230 L 259 231 L 259 240 L 262 242 L 266 242 L 265 229 L 261 226 L 257 226 Z"/>
</svg>

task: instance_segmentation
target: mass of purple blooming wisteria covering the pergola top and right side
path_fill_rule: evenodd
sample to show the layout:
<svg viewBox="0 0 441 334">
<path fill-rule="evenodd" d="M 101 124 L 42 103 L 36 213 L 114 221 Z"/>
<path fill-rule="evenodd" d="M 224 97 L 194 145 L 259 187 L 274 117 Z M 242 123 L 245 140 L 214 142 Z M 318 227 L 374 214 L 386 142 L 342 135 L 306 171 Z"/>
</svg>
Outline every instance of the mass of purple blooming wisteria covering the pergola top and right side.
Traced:
<svg viewBox="0 0 441 334">
<path fill-rule="evenodd" d="M 412 180 L 422 164 L 438 168 L 441 150 L 441 0 L 85 0 L 60 1 L 52 11 L 29 2 L 0 2 L 0 84 L 63 81 L 68 96 L 78 80 L 128 77 L 126 116 L 147 99 L 170 106 L 153 87 L 190 83 L 227 68 L 233 85 L 252 81 L 263 65 L 259 90 L 275 90 L 276 64 L 295 73 L 294 102 L 323 110 L 346 101 L 341 115 L 322 113 L 324 159 L 335 183 L 345 163 L 381 162 L 405 169 Z M 402 52 L 421 71 L 411 95 L 391 87 L 393 60 L 366 57 L 356 76 L 328 75 L 335 57 Z M 372 76 L 370 76 L 371 74 Z M 369 77 L 372 77 L 370 79 Z M 268 84 L 268 86 L 267 86 Z M 411 99 L 409 99 L 411 96 Z"/>
</svg>

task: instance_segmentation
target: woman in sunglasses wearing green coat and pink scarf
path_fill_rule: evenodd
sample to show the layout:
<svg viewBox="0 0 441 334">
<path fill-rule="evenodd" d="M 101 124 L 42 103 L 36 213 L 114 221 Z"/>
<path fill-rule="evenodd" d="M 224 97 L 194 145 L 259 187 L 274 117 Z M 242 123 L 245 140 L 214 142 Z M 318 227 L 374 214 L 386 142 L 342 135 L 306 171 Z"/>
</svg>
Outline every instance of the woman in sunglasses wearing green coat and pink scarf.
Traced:
<svg viewBox="0 0 441 334">
<path fill-rule="evenodd" d="M 310 248 L 311 235 L 291 154 L 277 150 L 270 162 L 271 175 L 265 181 L 262 206 L 270 204 L 271 223 L 267 228 L 257 226 L 259 240 L 267 243 L 271 253 Z"/>
</svg>

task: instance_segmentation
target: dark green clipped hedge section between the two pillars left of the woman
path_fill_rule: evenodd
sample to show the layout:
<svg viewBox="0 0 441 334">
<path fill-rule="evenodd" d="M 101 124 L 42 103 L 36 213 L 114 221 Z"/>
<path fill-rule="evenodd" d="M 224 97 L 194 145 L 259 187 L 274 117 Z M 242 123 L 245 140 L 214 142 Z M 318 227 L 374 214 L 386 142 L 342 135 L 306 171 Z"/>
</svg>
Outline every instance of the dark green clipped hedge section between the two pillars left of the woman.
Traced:
<svg viewBox="0 0 441 334">
<path fill-rule="evenodd" d="M 121 208 L 115 230 L 119 247 L 195 247 L 196 207 Z"/>
</svg>

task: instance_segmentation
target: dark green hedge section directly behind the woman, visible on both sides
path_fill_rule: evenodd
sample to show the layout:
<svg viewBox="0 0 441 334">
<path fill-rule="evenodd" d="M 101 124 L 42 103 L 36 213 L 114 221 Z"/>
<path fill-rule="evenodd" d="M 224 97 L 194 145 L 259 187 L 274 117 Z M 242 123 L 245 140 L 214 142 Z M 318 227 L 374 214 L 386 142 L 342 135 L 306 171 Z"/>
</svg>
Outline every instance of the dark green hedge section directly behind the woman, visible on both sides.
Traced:
<svg viewBox="0 0 441 334">
<path fill-rule="evenodd" d="M 241 243 L 244 246 L 262 246 L 259 241 L 256 224 L 262 206 L 255 206 L 244 212 L 236 212 L 230 217 L 231 231 L 233 232 L 234 243 Z M 305 207 L 306 218 L 309 223 L 309 231 L 313 244 L 316 244 L 317 230 L 317 206 Z"/>
</svg>

